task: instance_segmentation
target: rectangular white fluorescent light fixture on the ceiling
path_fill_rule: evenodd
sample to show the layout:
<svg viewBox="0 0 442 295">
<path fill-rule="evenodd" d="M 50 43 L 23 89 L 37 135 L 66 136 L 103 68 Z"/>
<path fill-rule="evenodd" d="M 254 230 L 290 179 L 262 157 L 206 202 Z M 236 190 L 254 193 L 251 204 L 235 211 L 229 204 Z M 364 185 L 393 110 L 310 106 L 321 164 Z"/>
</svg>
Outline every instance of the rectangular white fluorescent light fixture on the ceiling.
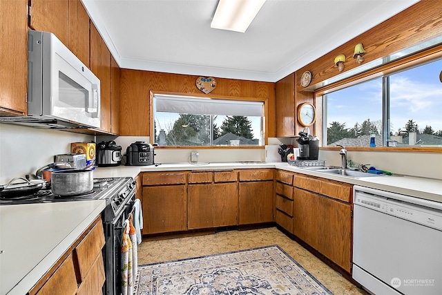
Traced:
<svg viewBox="0 0 442 295">
<path fill-rule="evenodd" d="M 211 28 L 245 32 L 265 0 L 220 0 Z"/>
</svg>

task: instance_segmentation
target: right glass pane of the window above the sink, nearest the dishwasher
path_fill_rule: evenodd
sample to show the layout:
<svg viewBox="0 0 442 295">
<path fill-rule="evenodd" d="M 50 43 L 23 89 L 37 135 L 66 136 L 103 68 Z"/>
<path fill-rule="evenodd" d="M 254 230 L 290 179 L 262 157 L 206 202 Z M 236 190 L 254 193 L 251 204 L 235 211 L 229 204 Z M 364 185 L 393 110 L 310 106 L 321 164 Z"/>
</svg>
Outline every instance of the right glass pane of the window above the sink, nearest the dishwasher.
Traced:
<svg viewBox="0 0 442 295">
<path fill-rule="evenodd" d="M 388 137 L 398 146 L 442 146 L 442 59 L 387 77 Z"/>
</svg>

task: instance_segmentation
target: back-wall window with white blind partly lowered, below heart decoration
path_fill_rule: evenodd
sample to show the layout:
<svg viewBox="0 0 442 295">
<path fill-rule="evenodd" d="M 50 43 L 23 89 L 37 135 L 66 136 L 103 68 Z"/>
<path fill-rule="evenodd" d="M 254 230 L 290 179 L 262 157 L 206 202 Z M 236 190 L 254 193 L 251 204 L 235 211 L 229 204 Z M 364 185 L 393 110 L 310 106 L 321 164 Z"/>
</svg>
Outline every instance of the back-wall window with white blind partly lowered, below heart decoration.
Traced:
<svg viewBox="0 0 442 295">
<path fill-rule="evenodd" d="M 153 96 L 155 142 L 160 146 L 263 145 L 263 102 Z"/>
</svg>

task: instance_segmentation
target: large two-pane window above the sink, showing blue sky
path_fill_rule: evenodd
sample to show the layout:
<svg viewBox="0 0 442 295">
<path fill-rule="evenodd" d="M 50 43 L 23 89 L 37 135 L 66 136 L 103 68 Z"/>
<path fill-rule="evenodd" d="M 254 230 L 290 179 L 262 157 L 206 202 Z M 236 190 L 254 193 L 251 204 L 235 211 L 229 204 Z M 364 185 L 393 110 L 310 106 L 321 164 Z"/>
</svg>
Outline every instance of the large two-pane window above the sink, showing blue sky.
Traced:
<svg viewBox="0 0 442 295">
<path fill-rule="evenodd" d="M 433 60 L 323 95 L 323 142 L 442 147 L 441 70 Z"/>
</svg>

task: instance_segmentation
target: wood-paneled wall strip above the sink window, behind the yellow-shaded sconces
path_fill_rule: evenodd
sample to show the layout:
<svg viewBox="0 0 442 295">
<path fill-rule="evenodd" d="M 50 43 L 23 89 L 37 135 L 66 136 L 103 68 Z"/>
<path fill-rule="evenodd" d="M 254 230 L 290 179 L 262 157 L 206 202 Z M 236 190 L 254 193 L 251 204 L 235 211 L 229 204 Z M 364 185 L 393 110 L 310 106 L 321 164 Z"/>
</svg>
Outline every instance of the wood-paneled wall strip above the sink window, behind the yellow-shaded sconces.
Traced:
<svg viewBox="0 0 442 295">
<path fill-rule="evenodd" d="M 323 57 L 300 68 L 296 71 L 296 105 L 305 101 L 314 102 L 314 93 L 304 91 L 305 88 L 300 85 L 300 77 L 305 70 L 309 70 L 312 75 L 310 86 L 315 85 L 359 66 L 356 59 L 353 58 L 354 46 L 358 43 L 362 43 L 367 51 L 364 55 L 365 64 L 439 36 L 442 34 L 441 12 L 442 1 L 421 0 L 414 6 L 398 13 L 398 15 L 387 19 Z M 340 54 L 347 57 L 343 72 L 339 72 L 338 67 L 334 64 L 334 58 Z M 351 81 L 352 78 L 347 80 Z M 318 106 L 316 107 L 318 108 Z M 318 126 L 319 123 L 317 121 L 317 127 L 320 127 Z M 297 126 L 297 129 L 300 127 Z"/>
</svg>

